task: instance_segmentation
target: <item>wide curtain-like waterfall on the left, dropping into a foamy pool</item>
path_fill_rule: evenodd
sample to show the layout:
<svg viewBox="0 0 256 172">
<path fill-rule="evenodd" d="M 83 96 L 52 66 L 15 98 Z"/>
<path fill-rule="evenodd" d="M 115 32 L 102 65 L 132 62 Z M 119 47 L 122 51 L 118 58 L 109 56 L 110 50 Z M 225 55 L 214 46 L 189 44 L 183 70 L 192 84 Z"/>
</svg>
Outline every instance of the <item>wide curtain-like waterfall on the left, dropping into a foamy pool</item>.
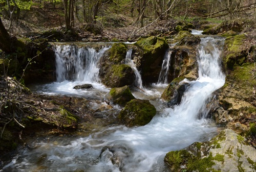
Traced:
<svg viewBox="0 0 256 172">
<path fill-rule="evenodd" d="M 103 47 L 97 52 L 88 46 L 55 45 L 57 82 L 65 80 L 99 82 L 97 64 L 109 48 Z"/>
</svg>

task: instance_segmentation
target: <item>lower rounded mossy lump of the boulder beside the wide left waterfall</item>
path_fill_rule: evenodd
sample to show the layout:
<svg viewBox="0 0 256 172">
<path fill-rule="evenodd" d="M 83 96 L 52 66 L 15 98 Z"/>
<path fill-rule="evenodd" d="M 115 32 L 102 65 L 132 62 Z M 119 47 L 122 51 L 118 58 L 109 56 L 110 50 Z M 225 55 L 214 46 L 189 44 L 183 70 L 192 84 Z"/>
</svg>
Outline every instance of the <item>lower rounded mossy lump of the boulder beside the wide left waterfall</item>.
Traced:
<svg viewBox="0 0 256 172">
<path fill-rule="evenodd" d="M 105 77 L 101 79 L 101 82 L 110 88 L 132 85 L 134 82 L 134 71 L 126 64 L 111 65 L 106 71 Z"/>
</svg>

